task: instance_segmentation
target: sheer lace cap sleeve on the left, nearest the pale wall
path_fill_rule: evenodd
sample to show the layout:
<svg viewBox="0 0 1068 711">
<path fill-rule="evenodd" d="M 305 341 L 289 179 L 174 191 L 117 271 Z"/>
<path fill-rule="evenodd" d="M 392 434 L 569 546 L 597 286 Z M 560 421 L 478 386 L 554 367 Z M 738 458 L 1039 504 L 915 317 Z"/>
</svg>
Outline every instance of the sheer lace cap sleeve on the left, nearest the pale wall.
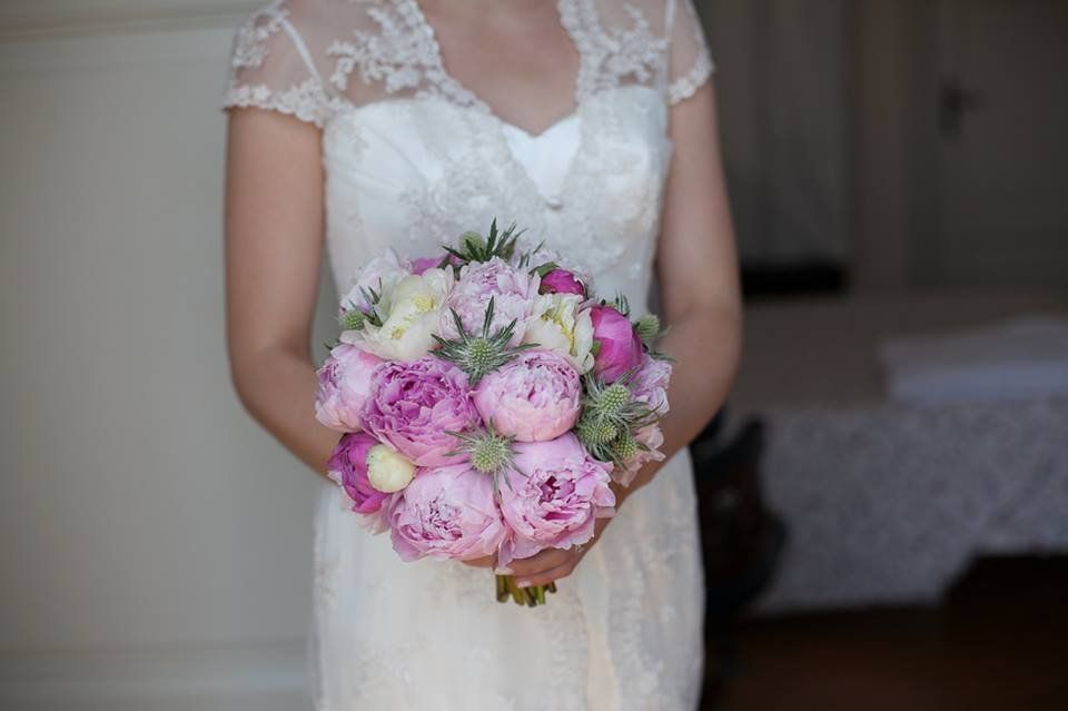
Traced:
<svg viewBox="0 0 1068 711">
<path fill-rule="evenodd" d="M 289 2 L 276 0 L 237 29 L 221 109 L 269 109 L 323 128 L 330 99 L 291 12 Z"/>
</svg>

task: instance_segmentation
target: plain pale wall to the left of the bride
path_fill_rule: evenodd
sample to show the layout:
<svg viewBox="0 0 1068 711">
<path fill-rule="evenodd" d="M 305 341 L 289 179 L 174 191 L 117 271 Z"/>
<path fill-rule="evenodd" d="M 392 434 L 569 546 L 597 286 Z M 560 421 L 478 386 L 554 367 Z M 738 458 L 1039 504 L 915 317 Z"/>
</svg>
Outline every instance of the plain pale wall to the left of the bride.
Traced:
<svg viewBox="0 0 1068 711">
<path fill-rule="evenodd" d="M 0 13 L 0 708 L 303 708 L 322 484 L 224 352 L 244 8 L 69 4 Z"/>
</svg>

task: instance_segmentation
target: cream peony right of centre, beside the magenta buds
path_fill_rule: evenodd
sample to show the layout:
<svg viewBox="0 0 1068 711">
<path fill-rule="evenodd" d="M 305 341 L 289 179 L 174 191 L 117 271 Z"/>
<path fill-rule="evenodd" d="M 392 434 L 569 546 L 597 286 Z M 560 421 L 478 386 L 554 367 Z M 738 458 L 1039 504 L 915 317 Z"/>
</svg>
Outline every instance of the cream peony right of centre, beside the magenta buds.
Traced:
<svg viewBox="0 0 1068 711">
<path fill-rule="evenodd" d="M 577 294 L 543 294 L 534 302 L 523 343 L 536 343 L 567 358 L 580 375 L 593 367 L 593 322 Z"/>
</svg>

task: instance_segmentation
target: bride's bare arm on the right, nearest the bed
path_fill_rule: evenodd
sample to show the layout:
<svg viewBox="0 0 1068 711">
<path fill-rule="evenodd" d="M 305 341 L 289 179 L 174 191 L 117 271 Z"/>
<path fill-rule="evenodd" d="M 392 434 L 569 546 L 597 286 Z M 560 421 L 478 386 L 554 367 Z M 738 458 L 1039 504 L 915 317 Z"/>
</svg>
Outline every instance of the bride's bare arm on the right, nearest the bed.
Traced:
<svg viewBox="0 0 1068 711">
<path fill-rule="evenodd" d="M 660 348 L 675 358 L 663 452 L 686 446 L 722 406 L 741 354 L 742 308 L 734 229 L 720 154 L 715 91 L 706 81 L 671 110 L 674 157 L 656 251 L 663 320 Z M 649 483 L 640 472 L 624 496 Z"/>
</svg>

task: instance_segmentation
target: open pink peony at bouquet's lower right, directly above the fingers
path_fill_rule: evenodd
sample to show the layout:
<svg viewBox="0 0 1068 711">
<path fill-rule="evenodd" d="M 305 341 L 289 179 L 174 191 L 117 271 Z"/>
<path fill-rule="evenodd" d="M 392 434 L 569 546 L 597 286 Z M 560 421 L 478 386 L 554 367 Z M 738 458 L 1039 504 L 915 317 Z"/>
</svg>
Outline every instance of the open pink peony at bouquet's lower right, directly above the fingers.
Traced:
<svg viewBox="0 0 1068 711">
<path fill-rule="evenodd" d="M 595 521 L 615 513 L 611 473 L 612 465 L 591 457 L 571 433 L 515 445 L 514 467 L 497 487 L 513 530 L 498 563 L 590 541 Z"/>
</svg>

